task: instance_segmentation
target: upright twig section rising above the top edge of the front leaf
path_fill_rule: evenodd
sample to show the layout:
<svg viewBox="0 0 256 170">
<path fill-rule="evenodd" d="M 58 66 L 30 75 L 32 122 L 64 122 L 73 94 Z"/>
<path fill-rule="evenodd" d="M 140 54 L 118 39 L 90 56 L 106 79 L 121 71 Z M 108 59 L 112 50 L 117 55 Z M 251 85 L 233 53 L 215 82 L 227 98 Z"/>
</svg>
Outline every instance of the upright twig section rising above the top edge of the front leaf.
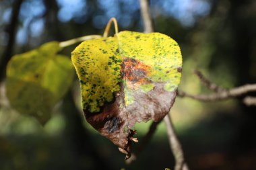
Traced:
<svg viewBox="0 0 256 170">
<path fill-rule="evenodd" d="M 144 32 L 149 33 L 153 32 L 153 24 L 152 24 L 152 19 L 150 17 L 150 9 L 148 5 L 147 0 L 139 0 L 140 1 L 140 6 L 141 6 L 141 16 L 143 19 L 143 24 L 144 24 Z"/>
</svg>

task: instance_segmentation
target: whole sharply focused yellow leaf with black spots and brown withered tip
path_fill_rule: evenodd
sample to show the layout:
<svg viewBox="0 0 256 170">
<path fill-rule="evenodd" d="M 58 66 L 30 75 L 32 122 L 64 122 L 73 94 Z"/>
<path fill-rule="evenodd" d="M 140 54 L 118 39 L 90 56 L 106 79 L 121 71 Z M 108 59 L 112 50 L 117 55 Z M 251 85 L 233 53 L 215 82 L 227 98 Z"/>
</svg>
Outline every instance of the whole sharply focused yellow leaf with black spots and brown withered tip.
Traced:
<svg viewBox="0 0 256 170">
<path fill-rule="evenodd" d="M 119 32 L 82 42 L 71 58 L 86 120 L 123 153 L 130 152 L 136 122 L 158 122 L 174 103 L 182 56 L 164 34 Z"/>
</svg>

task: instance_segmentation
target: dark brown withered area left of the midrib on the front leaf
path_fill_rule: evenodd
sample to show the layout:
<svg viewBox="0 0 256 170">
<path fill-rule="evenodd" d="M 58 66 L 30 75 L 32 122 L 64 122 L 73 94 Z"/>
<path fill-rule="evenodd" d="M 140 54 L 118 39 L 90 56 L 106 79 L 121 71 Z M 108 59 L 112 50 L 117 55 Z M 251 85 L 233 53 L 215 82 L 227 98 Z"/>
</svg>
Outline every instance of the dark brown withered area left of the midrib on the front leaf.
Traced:
<svg viewBox="0 0 256 170">
<path fill-rule="evenodd" d="M 102 136 L 109 138 L 114 144 L 117 144 L 119 148 L 122 148 L 124 152 L 130 153 L 131 139 L 129 136 L 133 136 L 133 131 L 127 127 L 127 116 L 123 117 L 121 112 L 123 109 L 119 108 L 123 103 L 123 92 L 115 94 L 115 102 L 104 105 L 102 111 L 98 113 L 91 113 L 88 110 L 84 110 L 86 120 L 96 129 Z"/>
</svg>

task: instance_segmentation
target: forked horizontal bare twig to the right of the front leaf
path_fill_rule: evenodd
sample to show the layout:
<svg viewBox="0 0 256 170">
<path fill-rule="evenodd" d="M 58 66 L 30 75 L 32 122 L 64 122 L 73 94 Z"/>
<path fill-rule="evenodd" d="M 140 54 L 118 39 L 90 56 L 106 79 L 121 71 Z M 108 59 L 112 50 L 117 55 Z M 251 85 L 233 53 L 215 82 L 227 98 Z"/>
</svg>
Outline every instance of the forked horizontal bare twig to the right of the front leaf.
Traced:
<svg viewBox="0 0 256 170">
<path fill-rule="evenodd" d="M 221 101 L 225 99 L 241 97 L 250 92 L 256 92 L 256 84 L 242 85 L 240 87 L 235 87 L 233 89 L 222 89 L 218 87 L 218 85 L 215 85 L 214 83 L 205 79 L 199 71 L 196 71 L 196 74 L 203 83 L 203 85 L 205 85 L 209 89 L 216 91 L 216 93 L 191 95 L 184 91 L 178 91 L 179 97 L 189 97 L 191 99 L 196 99 L 199 101 Z M 245 97 L 243 102 L 246 105 L 256 105 L 255 97 Z"/>
</svg>

